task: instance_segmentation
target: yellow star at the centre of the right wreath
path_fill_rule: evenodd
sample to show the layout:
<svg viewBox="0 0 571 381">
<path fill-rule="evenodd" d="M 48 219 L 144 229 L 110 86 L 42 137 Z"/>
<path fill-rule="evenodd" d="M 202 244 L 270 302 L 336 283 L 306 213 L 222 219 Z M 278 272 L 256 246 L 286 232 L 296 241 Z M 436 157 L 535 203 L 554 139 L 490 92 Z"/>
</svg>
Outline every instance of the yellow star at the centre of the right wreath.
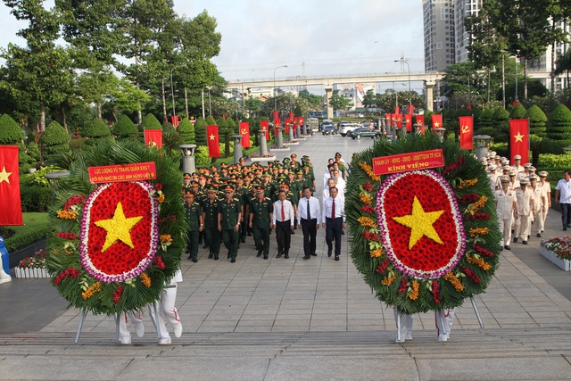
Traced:
<svg viewBox="0 0 571 381">
<path fill-rule="evenodd" d="M 427 236 L 438 244 L 443 244 L 442 239 L 434 230 L 433 224 L 436 219 L 442 216 L 444 211 L 424 211 L 422 204 L 418 201 L 417 196 L 414 196 L 412 202 L 412 213 L 408 216 L 393 217 L 395 221 L 410 228 L 409 250 L 412 246 L 417 244 L 418 240 L 423 236 Z"/>
</svg>

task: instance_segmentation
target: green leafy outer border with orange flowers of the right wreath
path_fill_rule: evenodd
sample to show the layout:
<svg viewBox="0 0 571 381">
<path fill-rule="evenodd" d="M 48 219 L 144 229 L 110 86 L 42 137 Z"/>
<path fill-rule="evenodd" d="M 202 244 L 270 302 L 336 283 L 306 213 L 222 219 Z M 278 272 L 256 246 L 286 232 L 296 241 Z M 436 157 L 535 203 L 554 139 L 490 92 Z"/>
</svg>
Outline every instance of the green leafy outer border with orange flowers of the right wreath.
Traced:
<svg viewBox="0 0 571 381">
<path fill-rule="evenodd" d="M 447 274 L 447 277 L 421 279 L 404 275 L 395 269 L 384 252 L 375 206 L 381 181 L 388 175 L 375 177 L 372 173 L 372 160 L 379 156 L 438 148 L 443 148 L 444 166 L 432 170 L 441 174 L 451 184 L 459 199 L 467 246 L 459 264 Z M 476 184 L 468 186 L 473 182 L 470 180 L 476 178 Z M 477 209 L 476 213 L 469 211 L 473 208 L 474 201 L 460 202 L 462 197 L 468 194 L 478 195 L 478 200 L 483 200 L 482 196 L 484 200 L 487 199 L 484 206 Z M 469 196 L 465 197 L 467 198 Z M 363 203 L 363 199 L 367 201 L 370 199 L 370 202 Z M 369 212 L 361 209 L 366 205 L 372 207 L 365 208 Z M 345 213 L 355 267 L 381 302 L 396 307 L 404 313 L 414 314 L 458 307 L 464 299 L 484 293 L 499 266 L 501 233 L 490 181 L 482 164 L 472 153 L 460 150 L 459 144 L 453 140 L 441 142 L 435 134 L 409 135 L 396 142 L 377 141 L 371 148 L 358 153 L 351 162 L 351 176 L 348 178 L 345 195 Z M 475 218 L 475 215 L 478 218 Z M 485 219 L 486 216 L 489 219 Z M 369 222 L 372 220 L 374 222 L 372 226 L 361 224 L 358 219 L 362 217 L 369 218 Z M 480 234 L 470 234 L 470 229 Z M 487 233 L 482 234 L 485 230 Z M 474 279 L 479 280 L 479 283 Z M 411 299 L 413 294 L 418 295 L 414 300 Z"/>
</svg>

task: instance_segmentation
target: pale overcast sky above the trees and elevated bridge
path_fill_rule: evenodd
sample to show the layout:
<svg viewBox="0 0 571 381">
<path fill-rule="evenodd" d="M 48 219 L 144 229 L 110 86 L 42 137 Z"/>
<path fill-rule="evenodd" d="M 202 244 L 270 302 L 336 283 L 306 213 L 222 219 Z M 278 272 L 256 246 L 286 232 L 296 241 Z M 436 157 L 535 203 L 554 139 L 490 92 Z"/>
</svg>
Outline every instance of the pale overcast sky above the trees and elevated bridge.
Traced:
<svg viewBox="0 0 571 381">
<path fill-rule="evenodd" d="M 53 4 L 48 2 L 47 4 Z M 218 21 L 228 81 L 336 74 L 424 71 L 421 0 L 174 0 L 179 15 L 206 10 Z M 23 45 L 25 24 L 0 4 L 0 46 Z M 405 72 L 408 68 L 404 66 Z"/>
</svg>

